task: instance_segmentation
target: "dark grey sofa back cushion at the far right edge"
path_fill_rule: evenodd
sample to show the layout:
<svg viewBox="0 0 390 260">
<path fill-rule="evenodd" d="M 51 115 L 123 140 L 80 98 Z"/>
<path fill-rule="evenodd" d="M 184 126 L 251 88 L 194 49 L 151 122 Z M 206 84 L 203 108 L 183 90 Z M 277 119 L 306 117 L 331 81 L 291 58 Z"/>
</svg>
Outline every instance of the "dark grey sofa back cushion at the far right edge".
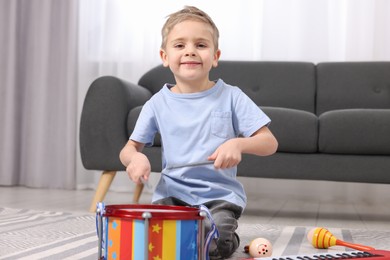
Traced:
<svg viewBox="0 0 390 260">
<path fill-rule="evenodd" d="M 390 108 L 390 62 L 317 64 L 317 115 L 353 108 Z"/>
</svg>

